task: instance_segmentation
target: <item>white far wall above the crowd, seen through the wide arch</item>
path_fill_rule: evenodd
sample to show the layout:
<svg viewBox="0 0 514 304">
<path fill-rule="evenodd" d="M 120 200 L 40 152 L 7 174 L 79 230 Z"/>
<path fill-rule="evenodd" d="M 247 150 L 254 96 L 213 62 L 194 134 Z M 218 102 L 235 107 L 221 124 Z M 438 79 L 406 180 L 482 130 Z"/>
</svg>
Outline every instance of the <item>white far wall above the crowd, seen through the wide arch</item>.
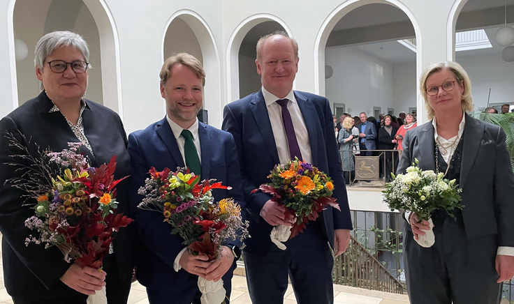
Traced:
<svg viewBox="0 0 514 304">
<path fill-rule="evenodd" d="M 344 103 L 352 116 L 360 112 L 374 116 L 373 107 L 381 107 L 381 112 L 392 107 L 392 63 L 354 47 L 328 47 L 325 62 L 334 70 L 334 75 L 325 79 L 331 103 Z"/>
</svg>

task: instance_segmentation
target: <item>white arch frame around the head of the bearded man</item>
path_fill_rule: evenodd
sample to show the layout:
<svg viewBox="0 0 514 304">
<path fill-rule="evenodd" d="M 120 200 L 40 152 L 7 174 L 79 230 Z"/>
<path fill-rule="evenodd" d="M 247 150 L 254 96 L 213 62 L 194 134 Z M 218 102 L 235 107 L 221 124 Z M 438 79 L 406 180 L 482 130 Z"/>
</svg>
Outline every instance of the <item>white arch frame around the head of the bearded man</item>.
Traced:
<svg viewBox="0 0 514 304">
<path fill-rule="evenodd" d="M 184 22 L 191 27 L 191 30 L 193 30 L 193 33 L 195 33 L 196 39 L 198 40 L 200 50 L 202 50 L 205 74 L 212 75 L 212 77 L 209 77 L 205 81 L 203 94 L 204 107 L 209 112 L 209 124 L 221 127 L 221 111 L 223 102 L 221 101 L 222 75 L 220 70 L 221 65 L 219 62 L 219 52 L 218 47 L 216 46 L 216 40 L 214 39 L 214 34 L 203 17 L 192 10 L 177 10 L 177 12 L 171 15 L 168 22 L 166 22 L 166 26 L 164 26 L 163 39 L 161 41 L 162 63 L 164 63 L 164 40 L 166 40 L 166 32 L 168 31 L 168 27 L 171 22 L 177 17 L 180 17 L 180 19 L 184 20 Z"/>
</svg>

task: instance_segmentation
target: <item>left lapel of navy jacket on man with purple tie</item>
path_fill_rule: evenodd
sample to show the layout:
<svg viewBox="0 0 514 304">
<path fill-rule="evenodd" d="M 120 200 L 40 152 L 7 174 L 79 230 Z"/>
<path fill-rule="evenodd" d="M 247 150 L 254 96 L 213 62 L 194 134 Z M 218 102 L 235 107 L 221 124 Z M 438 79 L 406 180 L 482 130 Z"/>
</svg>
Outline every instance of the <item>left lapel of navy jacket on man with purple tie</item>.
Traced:
<svg viewBox="0 0 514 304">
<path fill-rule="evenodd" d="M 262 135 L 264 143 L 266 144 L 267 149 L 270 151 L 273 157 L 273 162 L 275 164 L 278 164 L 280 162 L 279 153 L 277 152 L 277 146 L 275 144 L 275 139 L 273 137 L 273 130 L 271 128 L 270 123 L 270 115 L 267 114 L 266 102 L 264 101 L 263 92 L 259 91 L 256 94 L 256 97 L 253 100 L 251 100 L 250 103 L 250 109 L 252 114 L 254 114 L 254 119 L 259 128 L 260 135 Z"/>
</svg>

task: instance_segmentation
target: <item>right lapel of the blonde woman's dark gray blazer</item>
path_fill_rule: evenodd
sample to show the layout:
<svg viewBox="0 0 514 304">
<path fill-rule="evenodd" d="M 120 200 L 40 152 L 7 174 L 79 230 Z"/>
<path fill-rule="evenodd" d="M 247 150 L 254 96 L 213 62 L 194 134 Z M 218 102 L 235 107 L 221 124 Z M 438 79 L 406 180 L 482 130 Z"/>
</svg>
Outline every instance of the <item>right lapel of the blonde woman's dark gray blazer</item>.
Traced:
<svg viewBox="0 0 514 304">
<path fill-rule="evenodd" d="M 462 164 L 460 166 L 460 188 L 464 188 L 466 178 L 473 167 L 476 154 L 480 148 L 480 139 L 483 137 L 484 126 L 476 123 L 476 120 L 466 115 L 466 124 L 464 125 L 464 144 L 462 146 Z"/>
</svg>

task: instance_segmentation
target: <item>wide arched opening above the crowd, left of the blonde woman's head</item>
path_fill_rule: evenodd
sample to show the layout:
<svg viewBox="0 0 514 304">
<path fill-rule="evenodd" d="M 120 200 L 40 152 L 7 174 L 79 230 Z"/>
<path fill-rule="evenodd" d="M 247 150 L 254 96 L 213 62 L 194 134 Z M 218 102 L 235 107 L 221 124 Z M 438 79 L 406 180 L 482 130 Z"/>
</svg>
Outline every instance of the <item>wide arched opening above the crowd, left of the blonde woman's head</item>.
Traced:
<svg viewBox="0 0 514 304">
<path fill-rule="evenodd" d="M 332 102 L 332 112 L 352 116 L 417 112 L 423 107 L 418 33 L 399 1 L 342 4 L 316 37 L 316 93 Z"/>
</svg>

